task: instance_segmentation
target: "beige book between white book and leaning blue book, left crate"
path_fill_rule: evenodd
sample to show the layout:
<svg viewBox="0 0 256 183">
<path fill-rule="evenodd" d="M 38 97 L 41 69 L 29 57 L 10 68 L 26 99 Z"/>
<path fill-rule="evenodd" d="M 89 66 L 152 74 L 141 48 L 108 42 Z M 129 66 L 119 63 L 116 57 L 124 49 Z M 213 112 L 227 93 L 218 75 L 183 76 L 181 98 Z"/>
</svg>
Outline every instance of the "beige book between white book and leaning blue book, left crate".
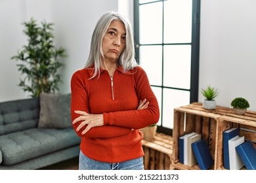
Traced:
<svg viewBox="0 0 256 183">
<path fill-rule="evenodd" d="M 187 146 L 188 146 L 188 162 L 186 163 L 186 165 L 188 165 L 188 166 L 192 167 L 192 166 L 196 165 L 196 163 L 197 163 L 191 144 L 200 139 L 201 139 L 201 134 L 195 134 L 195 135 L 188 137 L 188 144 L 187 144 Z"/>
</svg>

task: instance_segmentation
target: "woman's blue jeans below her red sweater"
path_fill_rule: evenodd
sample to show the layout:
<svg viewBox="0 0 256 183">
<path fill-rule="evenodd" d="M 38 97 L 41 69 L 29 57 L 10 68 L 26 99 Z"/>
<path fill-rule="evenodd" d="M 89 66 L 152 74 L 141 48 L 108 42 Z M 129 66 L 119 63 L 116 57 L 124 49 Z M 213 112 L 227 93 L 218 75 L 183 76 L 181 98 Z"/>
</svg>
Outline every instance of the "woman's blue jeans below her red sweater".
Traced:
<svg viewBox="0 0 256 183">
<path fill-rule="evenodd" d="M 106 163 L 88 158 L 80 151 L 79 170 L 144 170 L 143 157 L 120 163 Z"/>
</svg>

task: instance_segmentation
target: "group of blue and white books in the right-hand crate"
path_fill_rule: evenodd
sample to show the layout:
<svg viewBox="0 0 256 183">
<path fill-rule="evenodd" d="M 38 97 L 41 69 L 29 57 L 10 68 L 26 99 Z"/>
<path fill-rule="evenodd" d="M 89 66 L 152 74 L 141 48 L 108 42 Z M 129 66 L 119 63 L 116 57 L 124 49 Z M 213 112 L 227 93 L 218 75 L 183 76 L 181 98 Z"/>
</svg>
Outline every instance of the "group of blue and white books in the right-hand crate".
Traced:
<svg viewBox="0 0 256 183">
<path fill-rule="evenodd" d="M 225 169 L 256 169 L 256 150 L 251 141 L 239 136 L 237 127 L 223 131 L 223 158 Z"/>
</svg>

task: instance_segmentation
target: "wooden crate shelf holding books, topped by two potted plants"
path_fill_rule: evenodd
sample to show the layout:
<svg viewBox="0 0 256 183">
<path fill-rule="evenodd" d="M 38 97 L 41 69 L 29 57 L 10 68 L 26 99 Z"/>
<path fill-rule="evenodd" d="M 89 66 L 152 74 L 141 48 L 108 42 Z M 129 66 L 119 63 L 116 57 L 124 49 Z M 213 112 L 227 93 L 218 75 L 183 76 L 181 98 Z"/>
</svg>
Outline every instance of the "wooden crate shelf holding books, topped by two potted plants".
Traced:
<svg viewBox="0 0 256 183">
<path fill-rule="evenodd" d="M 253 141 L 256 146 L 256 112 L 247 110 L 245 115 L 234 114 L 232 108 L 217 106 L 207 110 L 202 103 L 192 103 L 174 109 L 173 156 L 171 169 L 200 169 L 179 162 L 179 137 L 192 131 L 202 134 L 214 159 L 210 169 L 223 168 L 223 131 L 230 127 L 240 127 L 240 136 Z"/>
</svg>

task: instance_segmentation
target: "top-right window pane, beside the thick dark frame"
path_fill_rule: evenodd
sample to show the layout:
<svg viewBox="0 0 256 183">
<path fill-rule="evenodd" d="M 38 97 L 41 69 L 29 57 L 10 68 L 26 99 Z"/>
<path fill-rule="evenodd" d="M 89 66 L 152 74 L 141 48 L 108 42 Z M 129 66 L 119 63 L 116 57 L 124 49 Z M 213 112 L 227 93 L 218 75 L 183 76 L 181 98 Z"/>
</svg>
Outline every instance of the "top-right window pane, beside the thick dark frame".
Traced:
<svg viewBox="0 0 256 183">
<path fill-rule="evenodd" d="M 164 1 L 163 42 L 191 42 L 192 0 Z"/>
</svg>

